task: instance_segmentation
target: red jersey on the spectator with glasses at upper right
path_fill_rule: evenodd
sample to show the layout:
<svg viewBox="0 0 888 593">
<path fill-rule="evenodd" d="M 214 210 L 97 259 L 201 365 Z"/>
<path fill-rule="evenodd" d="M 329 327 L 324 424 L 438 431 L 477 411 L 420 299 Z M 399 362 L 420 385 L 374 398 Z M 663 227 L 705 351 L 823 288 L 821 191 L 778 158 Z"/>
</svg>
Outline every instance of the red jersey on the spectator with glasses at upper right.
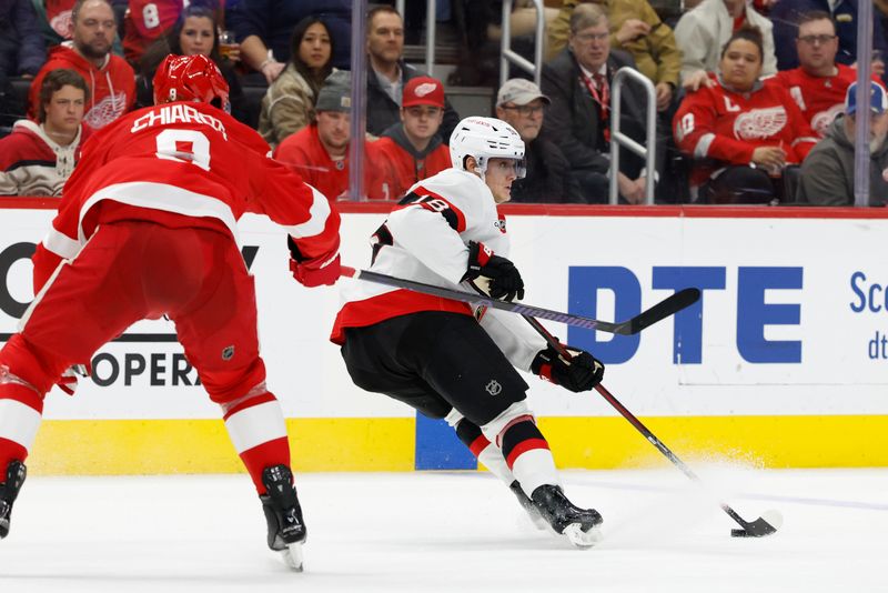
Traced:
<svg viewBox="0 0 888 593">
<path fill-rule="evenodd" d="M 845 112 L 845 92 L 857 80 L 857 70 L 854 68 L 837 63 L 836 69 L 836 74 L 831 77 L 815 77 L 801 67 L 780 70 L 775 74 L 775 79 L 789 89 L 789 96 L 795 99 L 818 138 L 824 138 L 836 115 Z M 872 80 L 881 84 L 878 77 L 872 77 Z"/>
</svg>

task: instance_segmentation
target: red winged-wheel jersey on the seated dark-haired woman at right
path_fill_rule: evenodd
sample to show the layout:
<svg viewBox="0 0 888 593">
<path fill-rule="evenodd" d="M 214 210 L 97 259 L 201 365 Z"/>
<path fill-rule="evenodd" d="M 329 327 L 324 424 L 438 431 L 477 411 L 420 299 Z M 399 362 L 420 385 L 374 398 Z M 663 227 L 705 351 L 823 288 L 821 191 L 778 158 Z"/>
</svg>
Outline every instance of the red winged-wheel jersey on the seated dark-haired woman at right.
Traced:
<svg viewBox="0 0 888 593">
<path fill-rule="evenodd" d="M 751 91 L 734 92 L 717 82 L 685 97 L 673 119 L 678 149 L 698 164 L 690 182 L 698 185 L 718 168 L 749 164 L 758 147 L 780 147 L 787 164 L 800 163 L 817 142 L 798 105 L 777 80 L 757 81 Z"/>
</svg>

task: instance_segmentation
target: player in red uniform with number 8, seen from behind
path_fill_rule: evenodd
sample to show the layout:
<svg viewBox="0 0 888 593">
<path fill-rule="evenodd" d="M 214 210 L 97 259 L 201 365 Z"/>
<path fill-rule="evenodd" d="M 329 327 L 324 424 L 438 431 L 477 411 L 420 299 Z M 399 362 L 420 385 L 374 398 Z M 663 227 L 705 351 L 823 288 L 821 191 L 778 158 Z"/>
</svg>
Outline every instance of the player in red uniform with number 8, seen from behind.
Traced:
<svg viewBox="0 0 888 593">
<path fill-rule="evenodd" d="M 220 108 L 228 84 L 206 57 L 170 56 L 155 105 L 88 142 L 33 257 L 34 298 L 0 350 L 0 537 L 53 383 L 141 319 L 168 315 L 262 500 L 269 545 L 301 566 L 305 539 L 281 408 L 265 386 L 253 281 L 236 221 L 268 215 L 289 235 L 296 280 L 339 278 L 339 214 Z"/>
</svg>

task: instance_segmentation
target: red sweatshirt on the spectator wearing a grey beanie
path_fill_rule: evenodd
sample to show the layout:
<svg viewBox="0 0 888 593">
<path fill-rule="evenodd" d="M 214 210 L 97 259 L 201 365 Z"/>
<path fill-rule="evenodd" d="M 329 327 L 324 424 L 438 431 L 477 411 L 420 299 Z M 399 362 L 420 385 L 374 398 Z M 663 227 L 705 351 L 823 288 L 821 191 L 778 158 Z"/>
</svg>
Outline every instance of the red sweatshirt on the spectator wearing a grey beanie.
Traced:
<svg viewBox="0 0 888 593">
<path fill-rule="evenodd" d="M 370 200 L 394 200 L 389 183 L 387 168 L 379 157 L 376 142 L 364 142 L 364 191 Z M 286 137 L 274 151 L 274 158 L 290 167 L 330 200 L 337 200 L 349 191 L 349 151 L 345 158 L 333 160 L 317 135 L 317 124 L 312 123 Z"/>
</svg>

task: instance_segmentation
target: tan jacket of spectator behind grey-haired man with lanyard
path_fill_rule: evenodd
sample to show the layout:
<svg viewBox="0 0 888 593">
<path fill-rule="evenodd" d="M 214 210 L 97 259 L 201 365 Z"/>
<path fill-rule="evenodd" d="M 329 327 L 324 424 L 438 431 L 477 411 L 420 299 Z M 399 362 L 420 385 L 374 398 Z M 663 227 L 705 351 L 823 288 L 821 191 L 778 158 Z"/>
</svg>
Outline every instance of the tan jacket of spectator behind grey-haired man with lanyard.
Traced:
<svg viewBox="0 0 888 593">
<path fill-rule="evenodd" d="M 567 44 L 571 14 L 582 0 L 565 0 L 551 27 L 549 57 Z M 682 52 L 672 28 L 660 20 L 647 0 L 603 0 L 610 27 L 610 47 L 632 53 L 636 68 L 650 79 L 657 91 L 657 111 L 673 102 L 682 69 Z"/>
</svg>

